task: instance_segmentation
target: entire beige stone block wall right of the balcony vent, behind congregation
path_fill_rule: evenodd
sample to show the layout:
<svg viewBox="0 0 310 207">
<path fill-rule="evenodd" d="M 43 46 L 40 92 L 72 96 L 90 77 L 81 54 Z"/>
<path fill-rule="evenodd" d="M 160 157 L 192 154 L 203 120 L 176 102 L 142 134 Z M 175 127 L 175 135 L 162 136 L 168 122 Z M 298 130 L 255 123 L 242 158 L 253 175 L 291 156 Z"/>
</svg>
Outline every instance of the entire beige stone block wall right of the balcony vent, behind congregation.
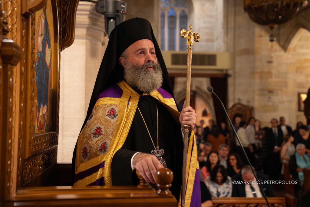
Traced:
<svg viewBox="0 0 310 207">
<path fill-rule="evenodd" d="M 242 0 L 225 3 L 227 49 L 234 54 L 234 68 L 228 78 L 228 107 L 237 101 L 253 106 L 253 115 L 262 126 L 270 126 L 270 119 L 280 116 L 286 117 L 293 128 L 297 121 L 305 124 L 303 112 L 298 111 L 298 92 L 307 92 L 310 86 L 310 33 L 299 29 L 290 37 L 290 30 L 307 24 L 299 24 L 303 18 L 296 16 L 278 26 L 274 33 L 281 37 L 281 45 L 274 42 L 271 46 L 270 31 L 250 20 Z"/>
</svg>

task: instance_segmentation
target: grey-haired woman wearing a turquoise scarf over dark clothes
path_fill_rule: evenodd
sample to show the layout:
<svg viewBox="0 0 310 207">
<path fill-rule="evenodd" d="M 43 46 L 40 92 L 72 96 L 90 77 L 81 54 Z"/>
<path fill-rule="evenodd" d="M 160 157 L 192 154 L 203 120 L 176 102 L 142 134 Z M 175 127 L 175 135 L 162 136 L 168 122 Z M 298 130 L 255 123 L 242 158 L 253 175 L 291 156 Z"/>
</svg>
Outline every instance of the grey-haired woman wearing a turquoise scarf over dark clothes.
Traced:
<svg viewBox="0 0 310 207">
<path fill-rule="evenodd" d="M 294 180 L 298 181 L 299 187 L 302 187 L 304 183 L 303 168 L 310 169 L 310 158 L 305 152 L 306 146 L 297 144 L 296 153 L 290 157 L 289 161 L 290 174 Z"/>
</svg>

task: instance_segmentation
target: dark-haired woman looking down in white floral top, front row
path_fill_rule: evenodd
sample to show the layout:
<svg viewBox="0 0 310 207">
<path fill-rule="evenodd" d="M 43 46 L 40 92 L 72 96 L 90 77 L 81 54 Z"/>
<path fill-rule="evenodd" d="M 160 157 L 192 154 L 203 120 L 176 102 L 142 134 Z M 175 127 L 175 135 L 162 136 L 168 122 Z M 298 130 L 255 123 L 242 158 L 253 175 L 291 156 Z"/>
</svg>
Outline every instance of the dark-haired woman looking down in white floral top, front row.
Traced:
<svg viewBox="0 0 310 207">
<path fill-rule="evenodd" d="M 228 176 L 223 165 L 216 165 L 205 183 L 212 197 L 231 197 L 232 195 L 232 178 Z"/>
</svg>

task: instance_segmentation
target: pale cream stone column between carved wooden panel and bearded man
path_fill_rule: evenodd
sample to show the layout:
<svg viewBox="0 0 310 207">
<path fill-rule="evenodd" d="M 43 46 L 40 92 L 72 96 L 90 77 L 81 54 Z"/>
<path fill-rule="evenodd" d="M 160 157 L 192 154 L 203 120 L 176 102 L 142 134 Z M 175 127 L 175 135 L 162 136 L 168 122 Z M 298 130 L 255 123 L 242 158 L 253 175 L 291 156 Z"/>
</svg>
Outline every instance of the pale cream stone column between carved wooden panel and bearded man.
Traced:
<svg viewBox="0 0 310 207">
<path fill-rule="evenodd" d="M 80 2 L 75 40 L 61 52 L 58 162 L 71 162 L 107 43 L 104 16 Z"/>
</svg>

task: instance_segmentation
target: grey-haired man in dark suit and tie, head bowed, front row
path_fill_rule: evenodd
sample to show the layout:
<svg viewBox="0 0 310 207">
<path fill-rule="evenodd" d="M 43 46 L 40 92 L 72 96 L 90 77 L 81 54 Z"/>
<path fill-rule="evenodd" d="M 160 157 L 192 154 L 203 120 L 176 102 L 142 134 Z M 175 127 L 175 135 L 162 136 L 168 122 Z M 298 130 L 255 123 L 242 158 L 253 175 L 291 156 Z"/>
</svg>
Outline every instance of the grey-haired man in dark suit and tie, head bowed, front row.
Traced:
<svg viewBox="0 0 310 207">
<path fill-rule="evenodd" d="M 255 173 L 259 182 L 256 181 L 250 165 L 245 165 L 241 173 L 232 177 L 232 197 L 261 198 L 263 197 L 263 192 L 267 197 L 275 197 L 268 175 L 258 171 Z M 235 182 L 236 184 L 234 184 Z M 260 190 L 258 184 L 261 184 L 263 192 Z"/>
</svg>

